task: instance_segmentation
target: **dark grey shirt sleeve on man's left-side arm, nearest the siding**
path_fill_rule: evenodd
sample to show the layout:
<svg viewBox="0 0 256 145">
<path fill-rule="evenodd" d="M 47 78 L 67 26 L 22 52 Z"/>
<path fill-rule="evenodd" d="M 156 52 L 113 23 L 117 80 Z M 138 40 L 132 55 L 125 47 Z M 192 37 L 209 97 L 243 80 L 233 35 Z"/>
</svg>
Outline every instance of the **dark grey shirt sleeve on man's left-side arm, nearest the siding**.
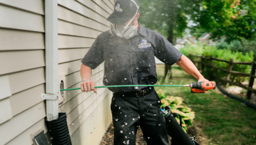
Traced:
<svg viewBox="0 0 256 145">
<path fill-rule="evenodd" d="M 81 61 L 84 66 L 95 69 L 102 64 L 104 61 L 104 49 L 102 47 L 102 43 L 104 42 L 100 39 L 100 36 L 98 36 Z"/>
</svg>

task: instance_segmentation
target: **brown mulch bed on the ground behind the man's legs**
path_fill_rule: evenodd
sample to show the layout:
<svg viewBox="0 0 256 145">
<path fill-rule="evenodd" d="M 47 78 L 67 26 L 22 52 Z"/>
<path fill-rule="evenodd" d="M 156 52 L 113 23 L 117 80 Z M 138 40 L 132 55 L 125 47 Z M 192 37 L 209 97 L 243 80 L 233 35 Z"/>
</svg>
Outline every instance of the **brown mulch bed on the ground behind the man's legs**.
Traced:
<svg viewBox="0 0 256 145">
<path fill-rule="evenodd" d="M 188 128 L 188 136 L 194 137 L 196 136 L 196 141 L 199 142 L 199 144 L 204 144 L 207 140 L 207 137 L 204 137 L 204 135 L 198 133 L 196 131 L 196 128 L 198 128 L 195 124 L 194 126 L 190 126 Z M 172 137 L 169 137 L 169 140 L 171 140 Z M 171 143 L 171 142 L 170 142 Z M 143 137 L 143 132 L 140 128 L 138 128 L 137 135 L 136 135 L 136 145 L 146 145 L 147 142 L 145 141 Z M 113 145 L 113 122 L 109 125 L 109 128 L 107 129 L 107 132 L 102 137 L 102 141 L 100 142 L 100 145 Z"/>
</svg>

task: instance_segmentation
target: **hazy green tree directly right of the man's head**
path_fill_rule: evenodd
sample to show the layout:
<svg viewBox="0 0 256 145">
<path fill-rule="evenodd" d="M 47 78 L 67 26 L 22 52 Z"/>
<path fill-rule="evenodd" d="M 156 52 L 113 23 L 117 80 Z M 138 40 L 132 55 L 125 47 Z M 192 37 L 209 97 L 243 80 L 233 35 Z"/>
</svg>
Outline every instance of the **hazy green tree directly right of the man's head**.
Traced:
<svg viewBox="0 0 256 145">
<path fill-rule="evenodd" d="M 141 12 L 140 23 L 147 28 L 161 33 L 161 35 L 166 37 L 174 45 L 176 37 L 182 37 L 185 28 L 188 28 L 188 18 L 185 12 L 190 11 L 187 9 L 191 8 L 194 2 L 188 0 L 139 1 Z M 167 75 L 167 71 L 170 69 L 171 67 L 165 64 L 165 75 Z"/>
</svg>

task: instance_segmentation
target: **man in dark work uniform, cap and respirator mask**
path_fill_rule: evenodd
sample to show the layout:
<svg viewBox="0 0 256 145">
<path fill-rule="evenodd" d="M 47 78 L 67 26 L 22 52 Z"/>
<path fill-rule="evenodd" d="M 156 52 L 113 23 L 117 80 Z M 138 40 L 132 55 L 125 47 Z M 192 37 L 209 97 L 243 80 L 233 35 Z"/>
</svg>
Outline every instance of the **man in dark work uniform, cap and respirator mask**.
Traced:
<svg viewBox="0 0 256 145">
<path fill-rule="evenodd" d="M 138 23 L 138 0 L 117 0 L 107 19 L 110 30 L 102 32 L 82 59 L 81 90 L 97 90 L 91 69 L 104 61 L 105 86 L 148 85 L 157 82 L 154 56 L 166 64 L 178 64 L 198 81 L 208 81 L 194 64 L 162 35 Z M 109 88 L 113 92 L 111 113 L 114 144 L 136 144 L 138 126 L 147 144 L 168 144 L 161 101 L 154 87 Z"/>
</svg>

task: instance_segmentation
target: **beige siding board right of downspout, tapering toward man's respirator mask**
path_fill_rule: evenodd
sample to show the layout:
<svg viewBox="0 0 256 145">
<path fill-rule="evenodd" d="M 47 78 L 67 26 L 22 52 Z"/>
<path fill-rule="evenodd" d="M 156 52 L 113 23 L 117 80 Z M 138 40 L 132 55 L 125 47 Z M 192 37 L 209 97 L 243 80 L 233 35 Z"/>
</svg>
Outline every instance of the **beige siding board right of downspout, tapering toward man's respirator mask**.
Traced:
<svg viewBox="0 0 256 145">
<path fill-rule="evenodd" d="M 68 10 L 62 6 L 58 6 L 58 18 L 71 23 L 76 23 L 80 26 L 100 30 L 102 32 L 109 30 L 109 27 L 104 26 L 102 23 L 93 21 L 92 19 L 84 17 L 82 14 L 78 14 L 77 12 L 73 12 L 72 10 Z"/>
</svg>

